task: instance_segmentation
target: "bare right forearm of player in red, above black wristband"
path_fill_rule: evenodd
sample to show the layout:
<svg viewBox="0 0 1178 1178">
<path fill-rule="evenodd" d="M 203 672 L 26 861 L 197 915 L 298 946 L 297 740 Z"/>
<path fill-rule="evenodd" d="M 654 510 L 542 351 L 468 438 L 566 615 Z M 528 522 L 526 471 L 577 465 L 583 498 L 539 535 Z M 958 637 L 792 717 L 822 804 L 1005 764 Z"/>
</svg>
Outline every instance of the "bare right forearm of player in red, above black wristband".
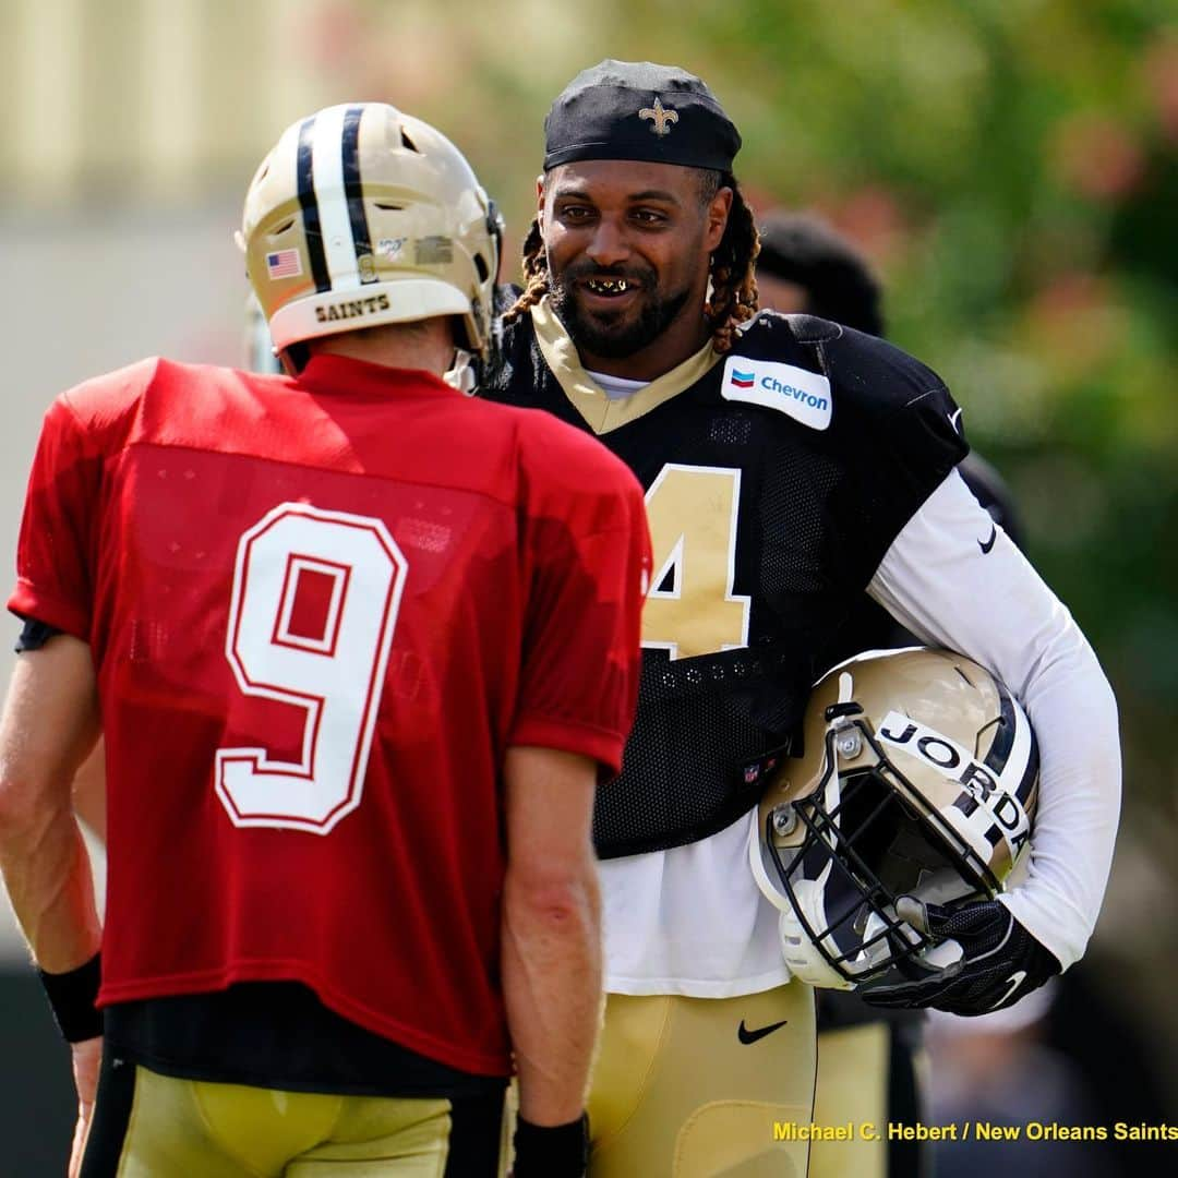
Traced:
<svg viewBox="0 0 1178 1178">
<path fill-rule="evenodd" d="M 519 1078 L 519 1114 L 536 1125 L 584 1107 L 601 1024 L 601 898 L 589 871 L 575 888 L 504 887 L 503 992 Z"/>
</svg>

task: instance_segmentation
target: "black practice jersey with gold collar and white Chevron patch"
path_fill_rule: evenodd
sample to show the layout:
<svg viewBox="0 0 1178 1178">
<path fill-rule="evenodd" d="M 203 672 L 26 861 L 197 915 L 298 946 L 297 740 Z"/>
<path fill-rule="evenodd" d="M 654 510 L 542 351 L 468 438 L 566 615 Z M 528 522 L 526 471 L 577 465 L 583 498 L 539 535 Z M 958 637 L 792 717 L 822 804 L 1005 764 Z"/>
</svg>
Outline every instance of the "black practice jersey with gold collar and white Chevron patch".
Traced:
<svg viewBox="0 0 1178 1178">
<path fill-rule="evenodd" d="M 967 451 L 940 378 L 874 336 L 762 312 L 610 401 L 547 300 L 484 393 L 597 435 L 647 490 L 638 713 L 598 792 L 603 858 L 706 838 L 756 805 L 884 554 Z"/>
</svg>

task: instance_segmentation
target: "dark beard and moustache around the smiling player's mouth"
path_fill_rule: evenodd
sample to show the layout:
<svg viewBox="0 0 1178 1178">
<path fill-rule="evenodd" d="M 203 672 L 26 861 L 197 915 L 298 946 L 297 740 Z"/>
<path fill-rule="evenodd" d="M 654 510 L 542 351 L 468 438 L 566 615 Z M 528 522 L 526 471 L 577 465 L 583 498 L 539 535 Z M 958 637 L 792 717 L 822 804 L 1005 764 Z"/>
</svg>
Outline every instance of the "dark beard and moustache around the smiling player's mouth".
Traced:
<svg viewBox="0 0 1178 1178">
<path fill-rule="evenodd" d="M 577 279 L 589 274 L 602 278 L 626 278 L 637 284 L 640 303 L 637 315 L 627 318 L 633 312 L 585 311 L 577 297 Z M 560 276 L 549 276 L 549 298 L 552 310 L 564 324 L 569 338 L 578 351 L 603 359 L 626 359 L 641 351 L 661 336 L 679 317 L 690 298 L 690 289 L 660 297 L 659 276 L 649 266 L 602 267 L 594 265 L 568 266 Z"/>
</svg>

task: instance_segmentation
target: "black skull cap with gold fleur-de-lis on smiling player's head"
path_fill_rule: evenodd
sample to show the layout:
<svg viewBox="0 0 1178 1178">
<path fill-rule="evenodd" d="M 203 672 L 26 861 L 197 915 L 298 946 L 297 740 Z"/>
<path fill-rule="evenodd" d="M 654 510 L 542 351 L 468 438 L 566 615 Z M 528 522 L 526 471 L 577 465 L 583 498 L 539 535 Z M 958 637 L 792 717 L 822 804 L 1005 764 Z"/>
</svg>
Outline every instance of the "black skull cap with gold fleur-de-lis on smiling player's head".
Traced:
<svg viewBox="0 0 1178 1178">
<path fill-rule="evenodd" d="M 730 172 L 740 133 L 712 91 L 677 66 L 607 59 L 564 87 L 544 120 L 544 171 L 633 159 Z"/>
</svg>

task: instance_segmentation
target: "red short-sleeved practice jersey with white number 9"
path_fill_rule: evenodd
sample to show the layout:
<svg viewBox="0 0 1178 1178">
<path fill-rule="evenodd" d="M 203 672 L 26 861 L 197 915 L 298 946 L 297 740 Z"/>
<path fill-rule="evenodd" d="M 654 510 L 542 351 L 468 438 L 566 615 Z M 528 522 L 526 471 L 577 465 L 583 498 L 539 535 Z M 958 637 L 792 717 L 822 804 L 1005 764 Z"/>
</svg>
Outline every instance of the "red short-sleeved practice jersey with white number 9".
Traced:
<svg viewBox="0 0 1178 1178">
<path fill-rule="evenodd" d="M 505 1074 L 504 750 L 617 770 L 648 571 L 620 461 L 423 372 L 148 360 L 59 397 L 9 608 L 94 654 L 100 1005 L 302 981 Z"/>
</svg>

